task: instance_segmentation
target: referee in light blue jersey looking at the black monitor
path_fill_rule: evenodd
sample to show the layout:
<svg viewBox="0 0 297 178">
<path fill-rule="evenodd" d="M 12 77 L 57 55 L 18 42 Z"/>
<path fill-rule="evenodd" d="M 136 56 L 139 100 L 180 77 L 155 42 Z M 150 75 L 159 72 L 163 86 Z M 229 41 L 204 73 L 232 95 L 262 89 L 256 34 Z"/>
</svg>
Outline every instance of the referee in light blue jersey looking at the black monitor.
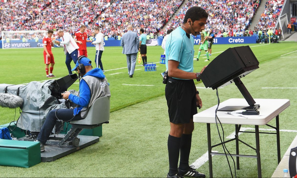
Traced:
<svg viewBox="0 0 297 178">
<path fill-rule="evenodd" d="M 189 166 L 189 155 L 194 130 L 193 115 L 202 107 L 199 92 L 193 79 L 200 78 L 194 73 L 194 39 L 204 29 L 208 13 L 195 6 L 187 10 L 183 24 L 171 32 L 166 41 L 166 68 L 168 81 L 165 97 L 168 105 L 170 133 L 168 136 L 169 172 L 167 177 L 205 177 Z M 206 66 L 201 70 L 201 73 Z M 180 153 L 180 163 L 178 158 Z"/>
</svg>

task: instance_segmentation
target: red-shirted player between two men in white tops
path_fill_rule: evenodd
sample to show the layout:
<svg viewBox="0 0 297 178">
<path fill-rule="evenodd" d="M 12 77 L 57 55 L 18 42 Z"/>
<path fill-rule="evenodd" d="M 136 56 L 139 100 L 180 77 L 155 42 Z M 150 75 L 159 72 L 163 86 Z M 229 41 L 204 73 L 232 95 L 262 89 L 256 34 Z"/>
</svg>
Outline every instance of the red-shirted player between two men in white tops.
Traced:
<svg viewBox="0 0 297 178">
<path fill-rule="evenodd" d="M 88 56 L 87 54 L 87 42 L 92 42 L 91 40 L 87 40 L 88 36 L 87 33 L 85 32 L 86 30 L 86 25 L 80 25 L 80 30 L 75 33 L 74 35 L 74 41 L 78 45 L 78 56 Z"/>
</svg>

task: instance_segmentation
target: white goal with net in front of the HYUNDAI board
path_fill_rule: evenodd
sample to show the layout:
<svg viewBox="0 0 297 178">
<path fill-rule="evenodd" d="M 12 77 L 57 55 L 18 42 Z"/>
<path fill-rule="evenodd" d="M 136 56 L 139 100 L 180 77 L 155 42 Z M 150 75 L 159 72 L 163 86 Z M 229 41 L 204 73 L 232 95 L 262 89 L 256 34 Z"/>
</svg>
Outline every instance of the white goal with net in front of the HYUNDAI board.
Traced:
<svg viewBox="0 0 297 178">
<path fill-rule="evenodd" d="M 45 30 L 2 31 L 2 49 L 43 48 Z"/>
</svg>

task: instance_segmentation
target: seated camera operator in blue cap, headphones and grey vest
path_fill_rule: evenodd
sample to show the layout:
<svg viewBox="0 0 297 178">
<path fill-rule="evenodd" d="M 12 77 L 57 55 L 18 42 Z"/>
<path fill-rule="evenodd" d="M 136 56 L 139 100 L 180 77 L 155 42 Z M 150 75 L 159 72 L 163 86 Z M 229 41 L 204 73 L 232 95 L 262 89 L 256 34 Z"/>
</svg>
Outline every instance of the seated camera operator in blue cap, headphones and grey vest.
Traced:
<svg viewBox="0 0 297 178">
<path fill-rule="evenodd" d="M 57 120 L 70 122 L 86 118 L 89 108 L 99 97 L 109 96 L 110 90 L 108 82 L 99 68 L 92 69 L 91 60 L 85 56 L 80 56 L 72 71 L 78 71 L 82 77 L 79 83 L 78 96 L 66 91 L 62 93 L 65 100 L 69 99 L 77 105 L 74 109 L 54 109 L 51 110 L 40 130 L 36 141 L 40 142 L 40 151 L 45 151 L 44 145 L 48 140 Z"/>
</svg>

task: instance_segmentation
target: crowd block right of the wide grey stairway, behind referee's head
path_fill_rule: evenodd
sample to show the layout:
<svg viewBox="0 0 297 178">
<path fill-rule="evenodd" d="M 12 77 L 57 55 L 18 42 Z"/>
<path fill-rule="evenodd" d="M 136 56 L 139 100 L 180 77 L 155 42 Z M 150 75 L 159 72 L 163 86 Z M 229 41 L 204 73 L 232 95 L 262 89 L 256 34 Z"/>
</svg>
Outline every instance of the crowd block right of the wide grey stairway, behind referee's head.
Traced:
<svg viewBox="0 0 297 178">
<path fill-rule="evenodd" d="M 200 6 L 209 13 L 207 31 L 213 29 L 216 34 L 231 32 L 230 36 L 235 36 L 236 32 L 245 32 L 248 29 L 259 3 L 260 0 L 189 0 L 167 28 L 163 29 L 162 34 L 167 29 L 175 29 L 182 24 L 189 7 Z"/>
</svg>

